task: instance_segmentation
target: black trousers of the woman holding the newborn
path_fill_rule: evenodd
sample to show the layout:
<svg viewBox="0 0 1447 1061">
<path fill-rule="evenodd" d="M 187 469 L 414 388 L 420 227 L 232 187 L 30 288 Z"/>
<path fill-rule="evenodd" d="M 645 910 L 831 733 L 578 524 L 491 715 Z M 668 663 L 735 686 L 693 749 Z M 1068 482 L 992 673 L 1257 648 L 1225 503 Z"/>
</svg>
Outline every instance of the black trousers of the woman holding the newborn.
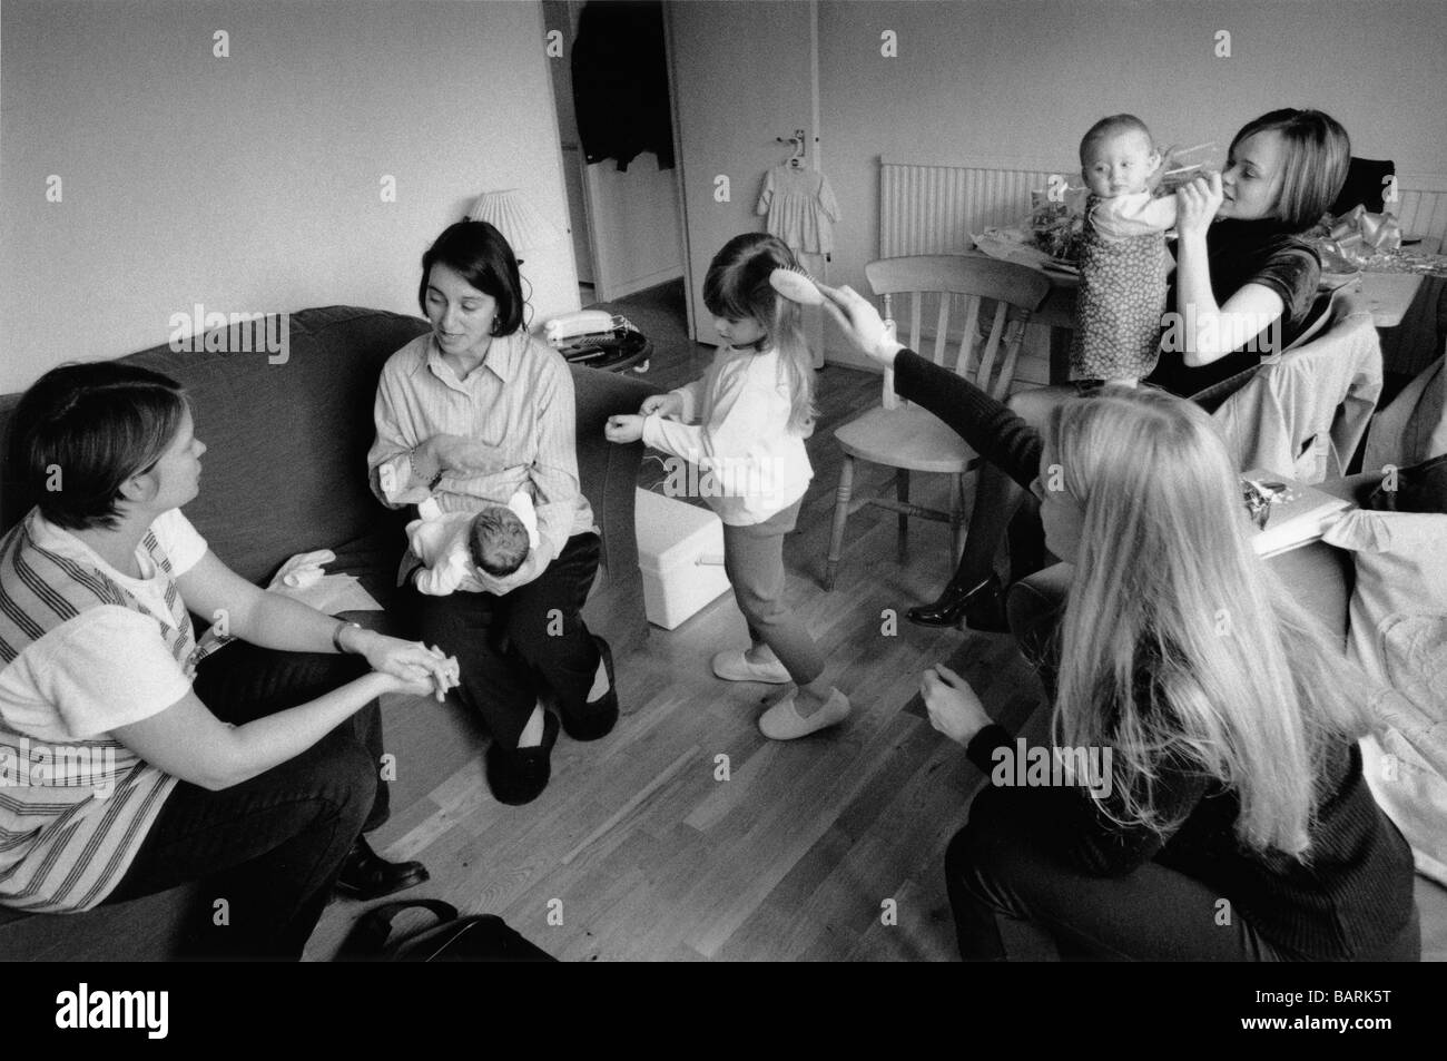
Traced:
<svg viewBox="0 0 1447 1061">
<path fill-rule="evenodd" d="M 502 596 L 402 591 L 412 628 L 427 644 L 457 657 L 463 703 L 482 715 L 505 748 L 518 747 L 538 696 L 548 689 L 559 711 L 570 718 L 586 714 L 599 650 L 579 612 L 599 554 L 596 534 L 574 534 L 547 570 Z"/>
</svg>

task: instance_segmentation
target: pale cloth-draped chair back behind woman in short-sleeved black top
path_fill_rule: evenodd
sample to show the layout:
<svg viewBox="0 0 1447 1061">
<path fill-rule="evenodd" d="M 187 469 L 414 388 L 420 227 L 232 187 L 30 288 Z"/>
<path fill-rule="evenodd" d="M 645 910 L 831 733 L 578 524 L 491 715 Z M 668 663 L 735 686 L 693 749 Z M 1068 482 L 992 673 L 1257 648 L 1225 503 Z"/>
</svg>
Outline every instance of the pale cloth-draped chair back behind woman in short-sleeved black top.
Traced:
<svg viewBox="0 0 1447 1061">
<path fill-rule="evenodd" d="M 1325 331 L 1263 363 L 1211 413 L 1239 470 L 1308 485 L 1346 475 L 1382 392 L 1382 352 L 1360 303 L 1333 308 Z"/>
</svg>

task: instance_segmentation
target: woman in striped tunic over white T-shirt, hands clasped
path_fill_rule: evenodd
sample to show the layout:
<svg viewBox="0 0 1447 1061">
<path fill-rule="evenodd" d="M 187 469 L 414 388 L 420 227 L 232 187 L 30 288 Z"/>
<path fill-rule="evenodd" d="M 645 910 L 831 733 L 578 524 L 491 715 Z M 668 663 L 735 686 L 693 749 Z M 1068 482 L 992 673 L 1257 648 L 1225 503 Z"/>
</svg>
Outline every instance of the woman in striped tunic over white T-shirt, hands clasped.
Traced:
<svg viewBox="0 0 1447 1061">
<path fill-rule="evenodd" d="M 425 880 L 360 834 L 388 811 L 378 696 L 441 698 L 449 660 L 207 549 L 181 512 L 205 446 L 166 376 L 52 369 L 12 430 L 39 502 L 0 541 L 0 756 L 27 764 L 0 796 L 0 903 L 65 913 L 205 880 L 190 954 L 297 958 L 333 884 Z M 188 611 L 237 640 L 201 659 Z"/>
</svg>

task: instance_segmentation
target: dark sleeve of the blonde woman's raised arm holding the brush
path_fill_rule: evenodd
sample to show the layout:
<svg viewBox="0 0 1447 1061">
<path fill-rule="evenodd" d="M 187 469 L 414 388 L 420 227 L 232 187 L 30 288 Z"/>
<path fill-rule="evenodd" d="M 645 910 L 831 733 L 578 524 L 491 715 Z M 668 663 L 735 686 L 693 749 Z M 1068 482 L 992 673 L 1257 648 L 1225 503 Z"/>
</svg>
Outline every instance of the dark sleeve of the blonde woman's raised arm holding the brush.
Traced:
<svg viewBox="0 0 1447 1061">
<path fill-rule="evenodd" d="M 1040 473 L 1040 433 L 964 376 L 904 349 L 894 358 L 894 391 L 943 420 L 1026 489 Z"/>
</svg>

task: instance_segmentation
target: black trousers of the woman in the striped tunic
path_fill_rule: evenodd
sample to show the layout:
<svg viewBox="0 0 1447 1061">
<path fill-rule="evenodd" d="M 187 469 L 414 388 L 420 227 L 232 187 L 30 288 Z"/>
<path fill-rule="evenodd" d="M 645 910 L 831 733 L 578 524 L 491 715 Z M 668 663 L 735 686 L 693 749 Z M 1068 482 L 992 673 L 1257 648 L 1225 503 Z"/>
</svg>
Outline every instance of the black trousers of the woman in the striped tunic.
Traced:
<svg viewBox="0 0 1447 1061">
<path fill-rule="evenodd" d="M 194 689 L 226 722 L 305 703 L 360 677 L 357 656 L 285 653 L 233 641 L 201 663 Z M 301 957 L 341 860 L 386 819 L 382 725 L 369 703 L 307 751 L 220 792 L 178 782 L 107 903 L 201 880 L 190 958 Z"/>
</svg>

